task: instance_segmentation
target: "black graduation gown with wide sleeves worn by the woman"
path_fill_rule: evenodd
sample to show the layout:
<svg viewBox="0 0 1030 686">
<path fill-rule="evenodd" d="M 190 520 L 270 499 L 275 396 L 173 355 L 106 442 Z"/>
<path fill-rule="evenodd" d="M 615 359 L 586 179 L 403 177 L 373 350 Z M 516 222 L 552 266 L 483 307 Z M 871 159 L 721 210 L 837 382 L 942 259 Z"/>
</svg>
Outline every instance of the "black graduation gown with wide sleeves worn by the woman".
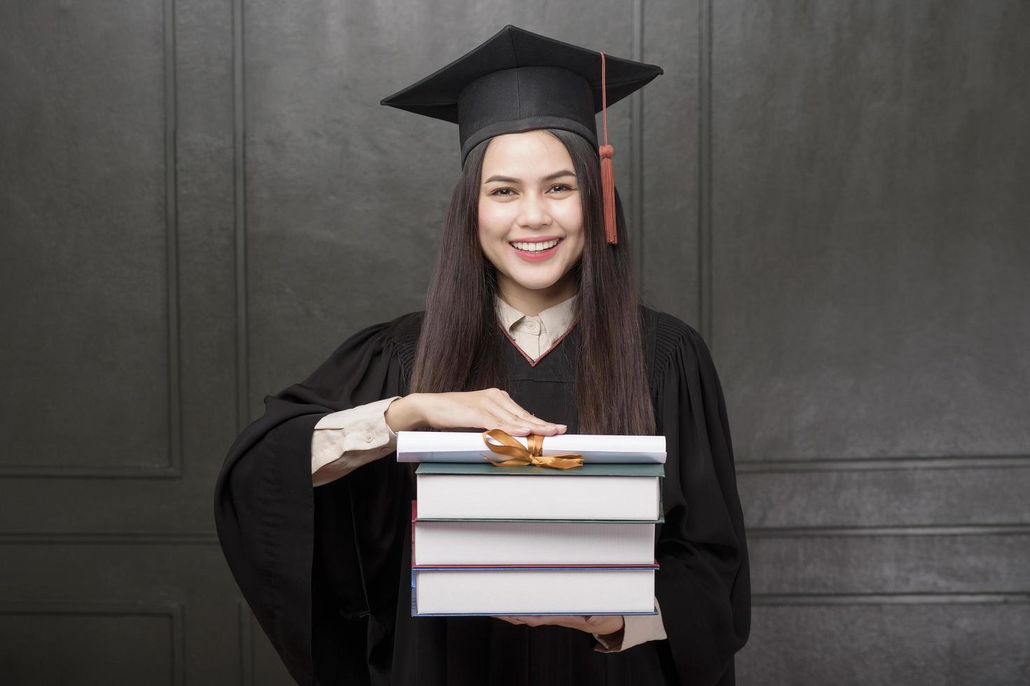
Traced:
<svg viewBox="0 0 1030 686">
<path fill-rule="evenodd" d="M 215 522 L 230 569 L 300 684 L 732 684 L 750 624 L 744 522 L 722 390 L 700 335 L 641 309 L 666 437 L 655 556 L 667 640 L 618 653 L 589 634 L 491 617 L 411 616 L 414 467 L 392 456 L 311 485 L 328 412 L 406 395 L 422 313 L 363 329 L 307 380 L 265 398 L 230 448 Z M 531 366 L 506 341 L 512 398 L 577 433 L 575 325 Z"/>
</svg>

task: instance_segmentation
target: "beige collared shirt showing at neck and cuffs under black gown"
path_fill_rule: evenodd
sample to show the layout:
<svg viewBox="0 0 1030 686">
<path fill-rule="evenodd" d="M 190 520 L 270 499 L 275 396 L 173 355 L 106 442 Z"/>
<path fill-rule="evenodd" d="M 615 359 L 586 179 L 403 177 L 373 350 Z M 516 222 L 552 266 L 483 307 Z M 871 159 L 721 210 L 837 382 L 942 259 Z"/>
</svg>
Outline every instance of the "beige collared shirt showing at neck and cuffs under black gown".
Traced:
<svg viewBox="0 0 1030 686">
<path fill-rule="evenodd" d="M 542 311 L 537 316 L 521 312 L 497 297 L 494 311 L 505 331 L 536 362 L 569 331 L 578 295 Z M 311 483 L 319 486 L 344 476 L 362 465 L 378 460 L 397 449 L 397 434 L 386 424 L 386 408 L 400 398 L 383 398 L 365 405 L 327 414 L 315 425 L 311 436 Z M 658 608 L 658 599 L 654 600 Z M 625 628 L 621 645 L 594 635 L 599 652 L 618 652 L 646 641 L 665 638 L 661 613 L 657 615 L 624 615 Z M 617 641 L 617 639 L 616 639 Z"/>
</svg>

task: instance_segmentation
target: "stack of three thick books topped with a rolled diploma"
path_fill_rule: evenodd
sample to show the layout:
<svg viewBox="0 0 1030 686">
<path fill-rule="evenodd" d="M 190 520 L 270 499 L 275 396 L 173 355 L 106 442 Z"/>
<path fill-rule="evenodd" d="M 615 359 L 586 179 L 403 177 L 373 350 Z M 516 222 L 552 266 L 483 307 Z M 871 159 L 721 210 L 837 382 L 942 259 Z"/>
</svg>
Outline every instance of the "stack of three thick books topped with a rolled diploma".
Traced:
<svg viewBox="0 0 1030 686">
<path fill-rule="evenodd" d="M 518 438 L 525 444 L 524 438 Z M 398 434 L 419 462 L 413 616 L 655 614 L 663 436 L 549 436 L 583 466 L 499 467 L 480 433 Z"/>
</svg>

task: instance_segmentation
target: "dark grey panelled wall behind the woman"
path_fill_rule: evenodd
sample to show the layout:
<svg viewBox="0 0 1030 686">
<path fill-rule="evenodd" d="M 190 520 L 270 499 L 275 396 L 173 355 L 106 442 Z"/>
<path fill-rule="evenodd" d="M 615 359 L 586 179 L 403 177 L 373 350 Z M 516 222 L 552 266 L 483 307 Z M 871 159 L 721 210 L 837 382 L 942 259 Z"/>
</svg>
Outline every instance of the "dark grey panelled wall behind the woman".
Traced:
<svg viewBox="0 0 1030 686">
<path fill-rule="evenodd" d="M 611 112 L 646 301 L 726 392 L 741 684 L 1030 683 L 1030 3 L 0 2 L 0 681 L 282 684 L 213 534 L 264 395 L 422 306 L 512 23 Z"/>
</svg>

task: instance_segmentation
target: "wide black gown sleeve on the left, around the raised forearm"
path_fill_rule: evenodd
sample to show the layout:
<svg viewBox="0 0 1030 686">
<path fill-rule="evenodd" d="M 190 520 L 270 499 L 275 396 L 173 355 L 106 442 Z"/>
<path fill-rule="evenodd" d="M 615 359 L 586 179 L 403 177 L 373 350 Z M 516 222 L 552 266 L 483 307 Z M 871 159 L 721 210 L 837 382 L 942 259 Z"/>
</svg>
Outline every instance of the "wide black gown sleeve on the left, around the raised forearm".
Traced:
<svg viewBox="0 0 1030 686">
<path fill-rule="evenodd" d="M 236 438 L 218 475 L 214 520 L 226 561 L 299 684 L 316 683 L 322 637 L 339 641 L 332 647 L 334 672 L 368 680 L 365 618 L 376 602 L 370 597 L 381 598 L 382 589 L 367 587 L 365 580 L 377 578 L 398 557 L 398 537 L 390 534 L 403 525 L 397 521 L 402 503 L 390 496 L 399 492 L 393 460 L 377 460 L 313 488 L 314 427 L 330 413 L 402 395 L 402 385 L 390 324 L 365 328 L 308 378 L 265 397 L 264 414 Z M 378 501 L 370 505 L 357 493 L 352 500 L 359 489 Z M 363 508 L 360 527 L 353 523 L 355 508 Z M 385 535 L 384 549 L 366 550 L 365 541 L 359 544 L 366 532 Z M 325 569 L 335 570 L 335 578 Z M 323 646 L 322 653 L 330 649 Z"/>
</svg>

